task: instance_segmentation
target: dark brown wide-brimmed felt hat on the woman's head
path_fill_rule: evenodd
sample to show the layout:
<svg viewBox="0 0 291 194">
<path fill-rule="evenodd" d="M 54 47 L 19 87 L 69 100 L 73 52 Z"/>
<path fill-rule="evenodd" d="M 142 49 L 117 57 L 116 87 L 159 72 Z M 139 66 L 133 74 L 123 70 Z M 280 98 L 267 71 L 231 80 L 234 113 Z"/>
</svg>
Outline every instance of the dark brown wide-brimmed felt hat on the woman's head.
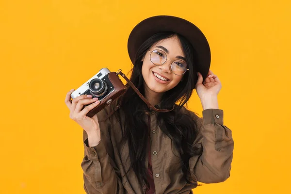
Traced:
<svg viewBox="0 0 291 194">
<path fill-rule="evenodd" d="M 196 53 L 194 54 L 194 67 L 188 68 L 194 71 L 195 81 L 197 81 L 196 71 L 202 74 L 204 80 L 210 69 L 210 47 L 208 41 L 199 28 L 180 17 L 153 16 L 137 24 L 130 32 L 128 39 L 128 52 L 132 64 L 134 64 L 136 51 L 139 47 L 146 39 L 158 32 L 175 32 L 190 41 Z"/>
</svg>

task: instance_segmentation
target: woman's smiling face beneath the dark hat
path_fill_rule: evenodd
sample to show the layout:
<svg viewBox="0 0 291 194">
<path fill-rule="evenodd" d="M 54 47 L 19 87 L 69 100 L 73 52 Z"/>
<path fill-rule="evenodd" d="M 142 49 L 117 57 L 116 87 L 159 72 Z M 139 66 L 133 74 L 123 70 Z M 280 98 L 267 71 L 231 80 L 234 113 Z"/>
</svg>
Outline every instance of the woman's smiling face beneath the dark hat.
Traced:
<svg viewBox="0 0 291 194">
<path fill-rule="evenodd" d="M 167 61 L 163 65 L 154 65 L 150 60 L 150 51 L 159 49 L 167 55 Z M 145 81 L 145 89 L 155 93 L 164 93 L 174 88 L 181 81 L 183 75 L 176 75 L 171 71 L 171 63 L 185 58 L 180 41 L 177 36 L 163 39 L 153 45 L 143 58 L 142 74 Z M 158 77 L 160 78 L 158 78 Z M 165 80 L 166 79 L 166 80 Z"/>
</svg>

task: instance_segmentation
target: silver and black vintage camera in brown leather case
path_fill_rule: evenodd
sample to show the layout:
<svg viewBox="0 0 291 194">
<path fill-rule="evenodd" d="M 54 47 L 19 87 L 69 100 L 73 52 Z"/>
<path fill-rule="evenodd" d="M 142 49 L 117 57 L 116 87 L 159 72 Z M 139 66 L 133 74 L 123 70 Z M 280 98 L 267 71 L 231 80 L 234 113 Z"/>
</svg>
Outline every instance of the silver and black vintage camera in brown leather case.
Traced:
<svg viewBox="0 0 291 194">
<path fill-rule="evenodd" d="M 87 113 L 87 116 L 92 117 L 121 97 L 125 91 L 126 87 L 119 79 L 116 72 L 110 72 L 108 68 L 102 68 L 97 74 L 75 90 L 71 94 L 71 98 L 74 99 L 81 95 L 92 95 L 93 97 L 98 97 L 100 104 Z"/>
</svg>

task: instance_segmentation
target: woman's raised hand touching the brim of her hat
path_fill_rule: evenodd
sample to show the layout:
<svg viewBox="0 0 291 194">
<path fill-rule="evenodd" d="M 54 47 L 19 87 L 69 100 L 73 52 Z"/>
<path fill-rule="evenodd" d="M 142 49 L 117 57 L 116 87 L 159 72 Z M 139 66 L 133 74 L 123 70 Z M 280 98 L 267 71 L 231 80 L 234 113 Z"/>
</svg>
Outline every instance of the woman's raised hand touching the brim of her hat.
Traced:
<svg viewBox="0 0 291 194">
<path fill-rule="evenodd" d="M 213 108 L 218 107 L 217 95 L 221 89 L 221 82 L 218 77 L 209 70 L 207 78 L 203 81 L 203 77 L 200 72 L 198 72 L 198 80 L 195 85 L 198 97 L 202 102 L 202 106 Z M 203 104 L 204 103 L 204 104 Z"/>
</svg>

